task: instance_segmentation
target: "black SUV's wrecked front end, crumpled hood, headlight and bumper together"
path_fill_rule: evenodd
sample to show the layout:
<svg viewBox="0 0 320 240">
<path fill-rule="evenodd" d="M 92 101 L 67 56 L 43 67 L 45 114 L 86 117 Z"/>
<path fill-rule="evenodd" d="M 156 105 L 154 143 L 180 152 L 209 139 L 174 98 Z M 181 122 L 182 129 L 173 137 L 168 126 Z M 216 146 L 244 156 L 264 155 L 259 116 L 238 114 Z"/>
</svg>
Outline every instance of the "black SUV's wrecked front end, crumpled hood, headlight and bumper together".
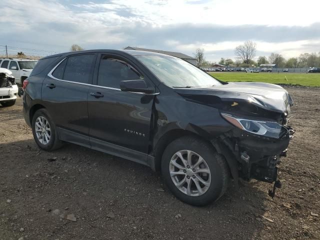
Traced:
<svg viewBox="0 0 320 240">
<path fill-rule="evenodd" d="M 286 156 L 294 130 L 288 125 L 293 100 L 281 86 L 260 82 L 236 82 L 178 93 L 187 100 L 219 109 L 230 130 L 211 143 L 223 154 L 234 179 L 273 183 L 274 197 L 280 157 Z"/>
</svg>

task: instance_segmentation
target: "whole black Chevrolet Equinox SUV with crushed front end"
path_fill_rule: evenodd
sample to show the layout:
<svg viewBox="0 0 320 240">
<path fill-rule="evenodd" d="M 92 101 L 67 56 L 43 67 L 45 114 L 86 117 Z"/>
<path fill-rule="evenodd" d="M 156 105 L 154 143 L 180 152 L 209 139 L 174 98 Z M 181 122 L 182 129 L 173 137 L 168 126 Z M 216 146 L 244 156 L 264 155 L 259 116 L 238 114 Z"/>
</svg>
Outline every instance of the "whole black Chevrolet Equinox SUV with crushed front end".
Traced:
<svg viewBox="0 0 320 240">
<path fill-rule="evenodd" d="M 23 87 L 24 118 L 40 148 L 71 142 L 142 163 L 193 205 L 218 199 L 230 177 L 277 182 L 293 132 L 293 102 L 281 86 L 223 82 L 154 52 L 47 56 Z"/>
</svg>

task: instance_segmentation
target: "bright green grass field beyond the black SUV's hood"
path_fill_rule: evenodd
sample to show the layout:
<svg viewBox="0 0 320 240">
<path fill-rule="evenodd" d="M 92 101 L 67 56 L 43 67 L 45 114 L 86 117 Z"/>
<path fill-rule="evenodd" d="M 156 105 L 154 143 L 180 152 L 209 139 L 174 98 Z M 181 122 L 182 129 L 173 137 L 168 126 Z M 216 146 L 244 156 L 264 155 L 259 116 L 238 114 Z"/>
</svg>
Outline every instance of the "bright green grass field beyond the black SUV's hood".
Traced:
<svg viewBox="0 0 320 240">
<path fill-rule="evenodd" d="M 275 84 L 320 86 L 320 73 L 210 72 L 209 74 L 222 81 L 260 81 Z"/>
</svg>

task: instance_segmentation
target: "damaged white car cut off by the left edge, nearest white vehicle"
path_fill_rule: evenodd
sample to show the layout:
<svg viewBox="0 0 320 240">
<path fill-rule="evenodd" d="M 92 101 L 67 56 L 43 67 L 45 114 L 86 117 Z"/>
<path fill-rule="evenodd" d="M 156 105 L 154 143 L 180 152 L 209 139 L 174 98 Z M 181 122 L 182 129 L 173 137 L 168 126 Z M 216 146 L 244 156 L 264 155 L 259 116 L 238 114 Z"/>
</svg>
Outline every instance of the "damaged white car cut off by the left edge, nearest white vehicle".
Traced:
<svg viewBox="0 0 320 240">
<path fill-rule="evenodd" d="M 15 103 L 18 93 L 18 86 L 15 84 L 12 72 L 0 67 L 0 104 L 12 106 Z"/>
</svg>

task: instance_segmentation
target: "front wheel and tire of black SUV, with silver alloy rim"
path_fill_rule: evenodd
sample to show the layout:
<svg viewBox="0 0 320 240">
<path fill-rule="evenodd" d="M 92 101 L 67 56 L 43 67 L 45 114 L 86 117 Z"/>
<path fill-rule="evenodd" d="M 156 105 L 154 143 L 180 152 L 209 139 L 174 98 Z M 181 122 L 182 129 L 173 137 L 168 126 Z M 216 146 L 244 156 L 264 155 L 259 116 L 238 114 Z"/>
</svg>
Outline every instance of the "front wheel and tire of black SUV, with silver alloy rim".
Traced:
<svg viewBox="0 0 320 240">
<path fill-rule="evenodd" d="M 179 153 L 185 159 L 184 163 L 178 156 Z M 188 154 L 191 155 L 190 168 L 187 168 L 188 165 L 185 167 Z M 202 161 L 196 166 L 200 159 L 198 156 L 202 157 L 204 162 Z M 173 162 L 174 164 L 172 164 Z M 176 163 L 178 167 L 176 167 Z M 197 173 L 200 169 L 202 172 L 206 172 Z M 207 169 L 209 169 L 209 173 L 207 173 Z M 177 171 L 179 174 L 172 174 Z M 224 157 L 215 152 L 209 143 L 192 136 L 180 137 L 165 148 L 161 159 L 161 172 L 170 191 L 181 201 L 194 206 L 203 206 L 219 199 L 224 194 L 229 180 L 229 169 Z M 201 183 L 199 177 L 203 180 Z M 196 181 L 197 184 L 195 184 Z M 191 182 L 189 191 L 187 189 L 188 182 Z M 181 186 L 176 186 L 179 184 Z M 198 190 L 198 187 L 201 190 Z"/>
</svg>

